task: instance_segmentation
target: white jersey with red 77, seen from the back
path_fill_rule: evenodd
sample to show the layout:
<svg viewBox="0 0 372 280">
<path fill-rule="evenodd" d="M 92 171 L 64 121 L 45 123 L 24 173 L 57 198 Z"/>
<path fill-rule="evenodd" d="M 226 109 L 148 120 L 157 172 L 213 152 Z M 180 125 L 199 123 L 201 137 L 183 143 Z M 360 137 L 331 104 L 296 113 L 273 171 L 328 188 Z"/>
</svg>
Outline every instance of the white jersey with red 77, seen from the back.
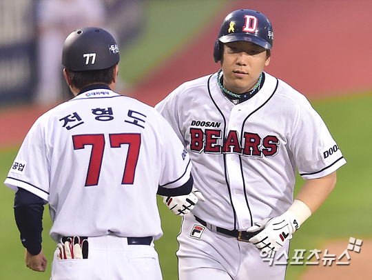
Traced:
<svg viewBox="0 0 372 280">
<path fill-rule="evenodd" d="M 90 90 L 46 112 L 23 141 L 6 186 L 50 204 L 50 235 L 163 234 L 158 187 L 189 180 L 189 154 L 150 106 Z"/>
</svg>

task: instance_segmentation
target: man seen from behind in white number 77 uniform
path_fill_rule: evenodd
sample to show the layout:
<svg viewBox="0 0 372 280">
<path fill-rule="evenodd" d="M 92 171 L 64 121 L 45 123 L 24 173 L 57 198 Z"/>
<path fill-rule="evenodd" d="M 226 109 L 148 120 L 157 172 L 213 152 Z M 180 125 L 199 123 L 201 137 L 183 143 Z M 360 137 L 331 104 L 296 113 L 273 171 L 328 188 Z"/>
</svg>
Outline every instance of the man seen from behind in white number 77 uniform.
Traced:
<svg viewBox="0 0 372 280">
<path fill-rule="evenodd" d="M 26 265 L 44 271 L 43 206 L 58 244 L 56 279 L 162 279 L 154 240 L 163 234 L 156 194 L 192 203 L 189 154 L 154 108 L 113 90 L 116 41 L 101 28 L 72 32 L 63 46 L 65 79 L 76 97 L 34 123 L 5 184 Z M 187 209 L 184 209 L 187 208 Z"/>
</svg>

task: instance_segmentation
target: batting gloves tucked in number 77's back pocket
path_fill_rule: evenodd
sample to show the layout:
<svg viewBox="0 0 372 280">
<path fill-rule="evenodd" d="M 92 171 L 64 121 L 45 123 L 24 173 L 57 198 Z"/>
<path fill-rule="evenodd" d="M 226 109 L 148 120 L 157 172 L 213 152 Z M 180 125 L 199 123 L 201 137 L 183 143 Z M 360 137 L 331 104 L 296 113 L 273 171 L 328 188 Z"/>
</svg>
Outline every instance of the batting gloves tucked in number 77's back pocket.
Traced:
<svg viewBox="0 0 372 280">
<path fill-rule="evenodd" d="M 58 244 L 57 259 L 87 259 L 87 246 L 87 239 L 81 241 L 80 237 L 74 237 L 74 240 L 68 238 L 64 244 Z"/>
</svg>

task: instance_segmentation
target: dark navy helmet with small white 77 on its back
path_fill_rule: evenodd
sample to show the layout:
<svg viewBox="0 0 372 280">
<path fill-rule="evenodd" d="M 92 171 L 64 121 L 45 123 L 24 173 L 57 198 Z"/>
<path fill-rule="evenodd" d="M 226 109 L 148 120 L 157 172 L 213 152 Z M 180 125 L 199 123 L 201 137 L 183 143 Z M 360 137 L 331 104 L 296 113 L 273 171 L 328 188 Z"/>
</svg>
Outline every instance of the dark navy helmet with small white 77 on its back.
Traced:
<svg viewBox="0 0 372 280">
<path fill-rule="evenodd" d="M 112 35 L 102 28 L 81 28 L 65 40 L 62 64 L 73 71 L 110 68 L 120 59 L 118 45 Z"/>
</svg>

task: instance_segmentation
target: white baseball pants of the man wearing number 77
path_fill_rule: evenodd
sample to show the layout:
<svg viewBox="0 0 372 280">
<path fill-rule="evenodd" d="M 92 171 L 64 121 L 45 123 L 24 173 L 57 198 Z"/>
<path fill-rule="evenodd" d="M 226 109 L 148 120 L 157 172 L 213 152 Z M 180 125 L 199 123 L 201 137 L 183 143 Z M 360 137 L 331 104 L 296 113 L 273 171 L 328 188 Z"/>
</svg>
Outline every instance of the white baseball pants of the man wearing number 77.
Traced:
<svg viewBox="0 0 372 280">
<path fill-rule="evenodd" d="M 158 253 L 151 245 L 128 245 L 125 237 L 89 237 L 88 259 L 57 259 L 51 280 L 162 280 Z"/>
</svg>

